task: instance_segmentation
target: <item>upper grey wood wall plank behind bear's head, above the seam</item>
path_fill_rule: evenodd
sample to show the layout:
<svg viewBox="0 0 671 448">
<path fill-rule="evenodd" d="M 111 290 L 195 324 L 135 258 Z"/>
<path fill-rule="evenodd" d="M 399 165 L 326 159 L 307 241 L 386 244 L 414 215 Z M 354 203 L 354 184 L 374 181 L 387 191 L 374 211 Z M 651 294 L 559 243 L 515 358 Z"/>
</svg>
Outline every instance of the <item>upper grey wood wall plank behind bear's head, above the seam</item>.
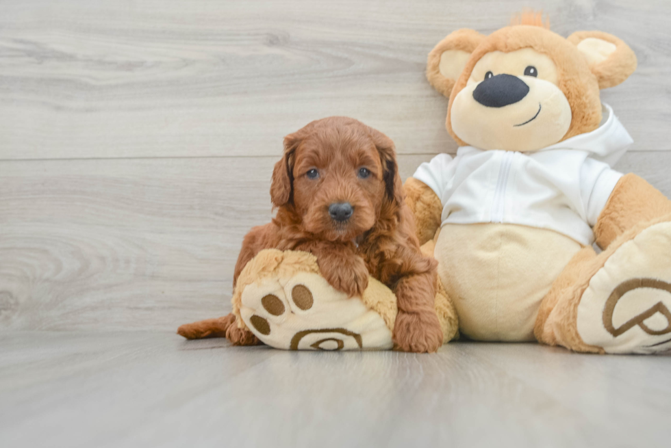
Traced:
<svg viewBox="0 0 671 448">
<path fill-rule="evenodd" d="M 0 159 L 271 156 L 316 118 L 359 118 L 400 153 L 454 151 L 427 53 L 527 0 L 3 2 Z M 669 150 L 666 0 L 540 0 L 553 29 L 616 34 L 639 68 L 607 90 L 636 143 Z"/>
</svg>

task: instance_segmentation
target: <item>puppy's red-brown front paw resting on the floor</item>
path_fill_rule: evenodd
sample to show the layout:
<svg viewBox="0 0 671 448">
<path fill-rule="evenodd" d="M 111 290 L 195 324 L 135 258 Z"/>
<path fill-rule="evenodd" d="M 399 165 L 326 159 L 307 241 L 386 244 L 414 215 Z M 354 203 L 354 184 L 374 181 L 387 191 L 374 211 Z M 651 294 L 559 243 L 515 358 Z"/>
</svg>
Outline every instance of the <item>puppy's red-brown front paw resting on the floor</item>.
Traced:
<svg viewBox="0 0 671 448">
<path fill-rule="evenodd" d="M 405 313 L 398 311 L 394 324 L 394 350 L 401 352 L 437 352 L 443 344 L 438 316 L 431 311 Z"/>
</svg>

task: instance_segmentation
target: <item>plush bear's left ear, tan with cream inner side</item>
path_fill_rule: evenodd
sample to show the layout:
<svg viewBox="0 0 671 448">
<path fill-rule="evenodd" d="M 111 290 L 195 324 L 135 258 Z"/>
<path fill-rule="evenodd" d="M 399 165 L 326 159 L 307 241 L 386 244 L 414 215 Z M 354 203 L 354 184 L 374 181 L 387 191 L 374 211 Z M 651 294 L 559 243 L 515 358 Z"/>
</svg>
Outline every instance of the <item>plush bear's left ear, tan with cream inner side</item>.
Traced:
<svg viewBox="0 0 671 448">
<path fill-rule="evenodd" d="M 433 47 L 427 60 L 427 79 L 435 90 L 450 97 L 470 53 L 484 38 L 472 29 L 457 29 Z"/>
</svg>

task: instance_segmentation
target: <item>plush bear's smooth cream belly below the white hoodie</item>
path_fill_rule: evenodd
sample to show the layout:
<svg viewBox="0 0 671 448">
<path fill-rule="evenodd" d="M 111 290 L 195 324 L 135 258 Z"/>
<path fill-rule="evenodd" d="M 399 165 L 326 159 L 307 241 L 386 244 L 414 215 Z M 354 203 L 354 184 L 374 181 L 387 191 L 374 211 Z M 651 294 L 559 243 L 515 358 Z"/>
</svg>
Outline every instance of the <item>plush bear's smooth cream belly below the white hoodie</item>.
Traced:
<svg viewBox="0 0 671 448">
<path fill-rule="evenodd" d="M 533 341 L 540 302 L 579 243 L 515 224 L 446 224 L 435 247 L 438 274 L 459 330 L 481 341 Z"/>
</svg>

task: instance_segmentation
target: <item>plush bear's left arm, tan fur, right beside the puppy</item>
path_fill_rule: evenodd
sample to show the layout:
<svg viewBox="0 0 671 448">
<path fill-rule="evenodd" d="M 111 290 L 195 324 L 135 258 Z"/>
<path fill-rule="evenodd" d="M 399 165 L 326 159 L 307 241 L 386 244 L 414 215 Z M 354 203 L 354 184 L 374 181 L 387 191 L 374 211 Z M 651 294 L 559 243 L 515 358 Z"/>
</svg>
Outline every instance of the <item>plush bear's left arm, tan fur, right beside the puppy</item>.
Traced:
<svg viewBox="0 0 671 448">
<path fill-rule="evenodd" d="M 412 210 L 420 245 L 433 239 L 435 231 L 440 227 L 442 204 L 440 198 L 422 181 L 410 177 L 403 185 L 405 203 Z"/>
</svg>

